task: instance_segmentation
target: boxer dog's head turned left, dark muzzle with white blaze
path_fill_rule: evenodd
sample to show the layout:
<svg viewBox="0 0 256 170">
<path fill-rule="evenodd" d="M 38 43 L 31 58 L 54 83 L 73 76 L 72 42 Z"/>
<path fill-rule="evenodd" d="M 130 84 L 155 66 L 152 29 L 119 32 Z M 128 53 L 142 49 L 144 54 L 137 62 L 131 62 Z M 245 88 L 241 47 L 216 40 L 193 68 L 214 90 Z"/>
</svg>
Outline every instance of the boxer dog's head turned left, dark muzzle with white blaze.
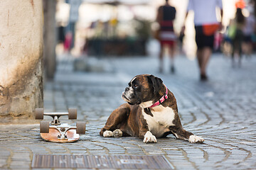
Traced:
<svg viewBox="0 0 256 170">
<path fill-rule="evenodd" d="M 134 77 L 125 88 L 122 98 L 132 105 L 139 105 L 149 101 L 154 103 L 159 100 L 159 91 L 164 88 L 163 81 L 149 74 Z"/>
</svg>

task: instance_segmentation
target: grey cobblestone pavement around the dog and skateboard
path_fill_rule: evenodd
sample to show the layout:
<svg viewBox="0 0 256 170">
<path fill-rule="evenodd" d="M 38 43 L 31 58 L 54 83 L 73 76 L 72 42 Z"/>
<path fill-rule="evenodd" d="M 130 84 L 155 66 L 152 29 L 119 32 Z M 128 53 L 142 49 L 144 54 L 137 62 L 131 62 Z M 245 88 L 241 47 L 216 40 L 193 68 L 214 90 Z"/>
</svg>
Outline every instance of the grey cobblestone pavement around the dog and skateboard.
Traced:
<svg viewBox="0 0 256 170">
<path fill-rule="evenodd" d="M 243 60 L 241 68 L 232 68 L 229 59 L 214 55 L 207 82 L 198 81 L 196 61 L 185 57 L 177 58 L 176 74 L 167 70 L 158 74 L 153 57 L 102 62 L 114 72 L 74 73 L 63 62 L 55 81 L 45 86 L 45 111 L 78 108 L 78 120 L 87 121 L 86 135 L 79 142 L 58 144 L 43 141 L 38 124 L 0 125 L 1 169 L 31 169 L 33 154 L 163 155 L 174 169 L 256 169 L 255 56 Z M 204 144 L 190 144 L 172 135 L 156 144 L 144 144 L 137 137 L 100 137 L 110 113 L 124 103 L 121 94 L 129 80 L 144 73 L 161 77 L 176 96 L 183 127 L 203 137 Z"/>
</svg>

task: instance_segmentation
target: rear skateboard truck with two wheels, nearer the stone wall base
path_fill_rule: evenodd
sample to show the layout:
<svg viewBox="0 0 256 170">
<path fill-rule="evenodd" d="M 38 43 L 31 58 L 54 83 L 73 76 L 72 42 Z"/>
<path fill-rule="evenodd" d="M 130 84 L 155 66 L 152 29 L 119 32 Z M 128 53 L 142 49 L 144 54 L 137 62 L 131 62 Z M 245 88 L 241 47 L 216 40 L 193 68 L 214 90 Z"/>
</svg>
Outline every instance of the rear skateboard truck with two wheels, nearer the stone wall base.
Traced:
<svg viewBox="0 0 256 170">
<path fill-rule="evenodd" d="M 53 121 L 50 123 L 51 125 L 60 125 L 60 116 L 68 115 L 68 119 L 77 119 L 77 109 L 76 108 L 69 108 L 67 112 L 60 112 L 60 113 L 43 113 L 43 108 L 36 108 L 36 119 L 43 119 L 43 115 L 49 115 L 53 118 Z"/>
</svg>

